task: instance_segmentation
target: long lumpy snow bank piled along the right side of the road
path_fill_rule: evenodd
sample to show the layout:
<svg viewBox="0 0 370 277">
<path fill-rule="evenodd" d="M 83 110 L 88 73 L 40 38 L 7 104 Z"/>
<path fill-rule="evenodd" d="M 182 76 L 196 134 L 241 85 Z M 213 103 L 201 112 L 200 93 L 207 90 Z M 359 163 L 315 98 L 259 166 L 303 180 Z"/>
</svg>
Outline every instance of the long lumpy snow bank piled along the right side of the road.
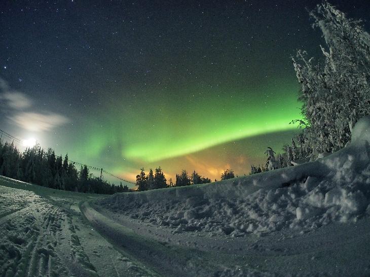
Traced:
<svg viewBox="0 0 370 277">
<path fill-rule="evenodd" d="M 231 236 L 357 220 L 370 213 L 370 116 L 352 134 L 346 148 L 314 162 L 216 183 L 116 194 L 97 205 L 173 232 Z"/>
</svg>

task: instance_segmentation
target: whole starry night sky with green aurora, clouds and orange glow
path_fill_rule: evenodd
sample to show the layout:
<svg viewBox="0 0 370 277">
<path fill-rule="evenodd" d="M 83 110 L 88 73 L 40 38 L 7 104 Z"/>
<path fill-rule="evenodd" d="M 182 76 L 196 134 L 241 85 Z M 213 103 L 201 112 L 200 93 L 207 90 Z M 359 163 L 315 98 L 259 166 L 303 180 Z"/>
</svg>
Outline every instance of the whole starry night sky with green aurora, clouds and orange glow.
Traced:
<svg viewBox="0 0 370 277">
<path fill-rule="evenodd" d="M 290 56 L 320 57 L 318 3 L 2 1 L 0 129 L 130 181 L 248 174 L 298 131 Z M 368 1 L 331 3 L 368 20 Z"/>
</svg>

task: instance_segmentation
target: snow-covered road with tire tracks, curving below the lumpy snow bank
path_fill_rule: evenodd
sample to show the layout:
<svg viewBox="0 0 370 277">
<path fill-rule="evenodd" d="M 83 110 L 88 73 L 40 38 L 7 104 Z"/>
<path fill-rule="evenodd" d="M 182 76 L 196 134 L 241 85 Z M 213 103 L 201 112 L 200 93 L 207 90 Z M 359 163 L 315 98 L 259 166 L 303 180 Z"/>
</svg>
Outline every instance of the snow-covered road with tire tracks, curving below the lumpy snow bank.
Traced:
<svg viewBox="0 0 370 277">
<path fill-rule="evenodd" d="M 177 233 L 94 204 L 101 196 L 0 184 L 0 276 L 370 274 L 369 218 L 303 234 Z"/>
</svg>

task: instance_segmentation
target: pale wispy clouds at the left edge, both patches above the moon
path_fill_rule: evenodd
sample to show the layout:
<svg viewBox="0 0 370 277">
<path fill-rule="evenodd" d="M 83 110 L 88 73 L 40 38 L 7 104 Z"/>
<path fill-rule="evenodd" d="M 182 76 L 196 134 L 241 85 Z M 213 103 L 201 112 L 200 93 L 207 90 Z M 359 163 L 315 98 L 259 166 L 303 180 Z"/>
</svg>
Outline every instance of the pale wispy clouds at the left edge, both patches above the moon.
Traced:
<svg viewBox="0 0 370 277">
<path fill-rule="evenodd" d="M 68 122 L 64 115 L 49 111 L 36 112 L 33 101 L 19 91 L 10 90 L 8 83 L 0 78 L 0 103 L 7 108 L 10 122 L 28 131 L 47 131 Z"/>
</svg>

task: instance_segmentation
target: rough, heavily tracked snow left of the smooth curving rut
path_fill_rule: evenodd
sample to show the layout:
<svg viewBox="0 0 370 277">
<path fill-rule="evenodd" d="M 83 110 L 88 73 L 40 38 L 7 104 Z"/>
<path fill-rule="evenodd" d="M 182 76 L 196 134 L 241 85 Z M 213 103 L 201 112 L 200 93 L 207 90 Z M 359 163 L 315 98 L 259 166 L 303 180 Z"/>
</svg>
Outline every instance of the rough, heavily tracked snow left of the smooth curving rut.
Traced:
<svg viewBox="0 0 370 277">
<path fill-rule="evenodd" d="M 0 276 L 151 275 L 84 219 L 79 203 L 102 197 L 0 177 Z"/>
</svg>

